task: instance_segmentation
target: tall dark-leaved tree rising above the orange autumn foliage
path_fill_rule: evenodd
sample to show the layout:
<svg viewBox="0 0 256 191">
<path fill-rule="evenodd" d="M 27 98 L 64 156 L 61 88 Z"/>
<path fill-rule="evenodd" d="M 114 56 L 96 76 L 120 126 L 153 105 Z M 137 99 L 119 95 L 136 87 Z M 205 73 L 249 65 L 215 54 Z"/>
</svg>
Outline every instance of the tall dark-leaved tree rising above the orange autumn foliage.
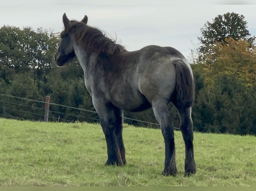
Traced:
<svg viewBox="0 0 256 191">
<path fill-rule="evenodd" d="M 212 62 L 206 55 L 212 53 L 216 42 L 227 44 L 226 39 L 231 37 L 235 41 L 242 39 L 253 45 L 255 40 L 255 37 L 250 37 L 245 17 L 234 12 L 218 15 L 212 23 L 207 21 L 201 28 L 201 33 L 202 36 L 198 37 L 201 44 L 198 48 L 198 61 L 206 63 Z"/>
</svg>

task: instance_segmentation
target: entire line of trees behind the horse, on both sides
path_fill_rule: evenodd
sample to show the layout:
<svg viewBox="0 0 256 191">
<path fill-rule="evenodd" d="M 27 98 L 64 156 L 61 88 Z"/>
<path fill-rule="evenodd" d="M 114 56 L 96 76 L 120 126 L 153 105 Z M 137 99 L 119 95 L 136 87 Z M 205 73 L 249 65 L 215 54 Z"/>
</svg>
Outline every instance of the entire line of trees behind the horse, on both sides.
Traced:
<svg viewBox="0 0 256 191">
<path fill-rule="evenodd" d="M 218 15 L 201 28 L 200 47 L 191 50 L 190 54 L 196 85 L 196 100 L 192 108 L 194 130 L 256 135 L 256 47 L 255 37 L 247 28 L 245 17 L 237 13 Z M 53 55 L 58 42 L 59 34 L 50 30 L 1 27 L 0 93 L 41 101 L 50 95 L 53 103 L 94 110 L 78 61 L 68 68 L 56 67 Z M 42 119 L 33 114 L 42 112 L 42 103 L 29 100 L 20 103 L 16 98 L 0 96 L 0 114 Z M 97 118 L 97 113 L 58 105 L 51 105 L 50 110 L 49 116 L 55 117 L 51 121 L 61 118 L 96 122 L 79 116 Z M 169 104 L 169 110 L 174 126 L 178 127 L 178 114 L 172 104 Z M 124 116 L 157 123 L 152 109 L 124 112 Z M 125 122 L 148 126 L 139 121 Z M 158 128 L 156 125 L 150 127 Z"/>
</svg>

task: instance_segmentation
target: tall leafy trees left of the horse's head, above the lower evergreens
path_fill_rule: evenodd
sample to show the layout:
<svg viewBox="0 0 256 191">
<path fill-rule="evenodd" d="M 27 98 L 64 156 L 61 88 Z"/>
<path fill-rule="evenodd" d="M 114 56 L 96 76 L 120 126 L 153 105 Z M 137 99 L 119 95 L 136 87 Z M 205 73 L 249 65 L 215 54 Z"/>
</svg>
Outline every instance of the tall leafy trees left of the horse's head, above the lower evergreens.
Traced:
<svg viewBox="0 0 256 191">
<path fill-rule="evenodd" d="M 25 27 L 23 30 L 13 26 L 1 27 L 0 78 L 9 83 L 13 80 L 14 74 L 33 71 L 34 81 L 35 78 L 42 80 L 42 77 L 50 71 L 58 43 L 56 35 L 52 31 L 40 28 L 35 32 L 30 27 Z"/>
</svg>

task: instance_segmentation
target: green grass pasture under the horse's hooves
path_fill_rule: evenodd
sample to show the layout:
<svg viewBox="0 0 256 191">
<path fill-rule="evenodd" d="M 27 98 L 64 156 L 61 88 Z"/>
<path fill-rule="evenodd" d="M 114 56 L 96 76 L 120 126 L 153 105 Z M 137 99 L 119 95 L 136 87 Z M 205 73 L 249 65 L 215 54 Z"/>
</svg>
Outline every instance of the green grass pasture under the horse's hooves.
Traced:
<svg viewBox="0 0 256 191">
<path fill-rule="evenodd" d="M 256 137 L 194 134 L 197 174 L 184 177 L 184 143 L 175 131 L 175 177 L 161 175 L 159 129 L 124 125 L 125 167 L 104 166 L 100 125 L 0 118 L 2 186 L 251 186 L 256 183 Z"/>
</svg>

